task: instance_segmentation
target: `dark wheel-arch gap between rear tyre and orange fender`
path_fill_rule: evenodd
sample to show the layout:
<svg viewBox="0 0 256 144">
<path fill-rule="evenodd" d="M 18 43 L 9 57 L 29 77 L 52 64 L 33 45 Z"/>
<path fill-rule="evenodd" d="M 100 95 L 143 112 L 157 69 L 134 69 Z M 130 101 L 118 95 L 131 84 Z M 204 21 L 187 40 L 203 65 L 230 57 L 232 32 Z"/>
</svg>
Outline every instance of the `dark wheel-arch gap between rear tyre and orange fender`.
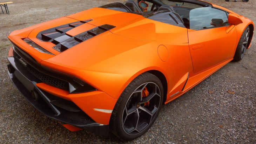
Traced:
<svg viewBox="0 0 256 144">
<path fill-rule="evenodd" d="M 166 98 L 167 98 L 167 89 L 168 89 L 166 77 L 164 76 L 164 74 L 161 71 L 158 71 L 158 70 L 149 70 L 147 72 L 155 75 L 161 81 L 161 83 L 163 85 L 163 91 L 164 91 L 164 93 L 163 93 L 163 104 L 164 104 L 164 102 L 166 101 Z"/>
</svg>

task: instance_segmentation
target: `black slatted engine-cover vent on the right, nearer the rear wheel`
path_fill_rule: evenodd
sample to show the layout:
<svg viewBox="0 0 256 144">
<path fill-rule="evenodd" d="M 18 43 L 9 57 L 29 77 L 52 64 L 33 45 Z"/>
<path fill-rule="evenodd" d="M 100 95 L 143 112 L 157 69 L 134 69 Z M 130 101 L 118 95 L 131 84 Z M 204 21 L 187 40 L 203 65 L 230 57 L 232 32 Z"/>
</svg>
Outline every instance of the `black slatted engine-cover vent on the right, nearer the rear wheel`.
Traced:
<svg viewBox="0 0 256 144">
<path fill-rule="evenodd" d="M 83 32 L 83 33 L 78 34 L 73 37 L 70 37 L 68 35 L 62 35 L 58 38 L 55 38 L 54 41 L 52 41 L 54 44 L 56 44 L 56 46 L 54 46 L 53 49 L 58 50 L 59 52 L 63 52 L 65 50 L 75 46 L 76 44 L 86 41 L 96 35 L 106 32 L 112 28 L 115 28 L 115 26 L 102 25 L 102 26 L 90 29 L 86 32 Z"/>
</svg>

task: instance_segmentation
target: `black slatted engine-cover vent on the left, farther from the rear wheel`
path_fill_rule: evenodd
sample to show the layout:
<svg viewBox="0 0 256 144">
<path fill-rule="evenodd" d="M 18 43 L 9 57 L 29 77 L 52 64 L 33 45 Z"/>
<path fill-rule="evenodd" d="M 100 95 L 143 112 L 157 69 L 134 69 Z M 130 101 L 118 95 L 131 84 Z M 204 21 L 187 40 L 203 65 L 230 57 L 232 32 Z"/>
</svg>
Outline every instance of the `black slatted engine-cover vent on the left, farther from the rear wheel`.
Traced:
<svg viewBox="0 0 256 144">
<path fill-rule="evenodd" d="M 69 39 L 71 36 L 66 35 L 65 33 L 75 27 L 78 27 L 84 23 L 90 22 L 92 19 L 83 20 L 83 21 L 77 21 L 68 23 L 66 25 L 50 28 L 47 30 L 44 30 L 36 36 L 40 41 L 45 42 L 52 42 L 54 44 L 58 44 L 62 41 L 65 41 Z"/>
</svg>

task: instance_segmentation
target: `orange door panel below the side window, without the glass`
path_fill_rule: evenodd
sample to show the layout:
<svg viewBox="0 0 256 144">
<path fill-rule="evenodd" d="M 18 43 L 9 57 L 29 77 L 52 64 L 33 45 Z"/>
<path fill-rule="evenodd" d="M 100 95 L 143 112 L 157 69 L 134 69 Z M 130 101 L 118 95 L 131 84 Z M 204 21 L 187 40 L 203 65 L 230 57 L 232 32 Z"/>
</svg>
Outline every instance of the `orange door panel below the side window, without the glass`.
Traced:
<svg viewBox="0 0 256 144">
<path fill-rule="evenodd" d="M 237 33 L 235 29 L 226 33 L 226 27 L 210 28 L 188 32 L 188 39 L 194 73 L 198 73 L 233 56 Z"/>
</svg>

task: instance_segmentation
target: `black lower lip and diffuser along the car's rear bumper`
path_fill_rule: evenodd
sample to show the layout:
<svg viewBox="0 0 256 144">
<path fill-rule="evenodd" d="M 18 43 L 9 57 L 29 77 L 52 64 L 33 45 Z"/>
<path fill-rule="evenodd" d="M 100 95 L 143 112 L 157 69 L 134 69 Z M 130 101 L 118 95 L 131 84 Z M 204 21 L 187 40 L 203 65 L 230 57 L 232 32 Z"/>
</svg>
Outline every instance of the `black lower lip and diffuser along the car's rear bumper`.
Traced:
<svg viewBox="0 0 256 144">
<path fill-rule="evenodd" d="M 96 123 L 84 112 L 76 114 L 75 112 L 70 112 L 63 110 L 61 108 L 55 107 L 48 100 L 49 93 L 44 92 L 36 86 L 36 83 L 40 81 L 33 75 L 29 75 L 28 71 L 23 68 L 23 66 L 14 59 L 14 57 L 8 57 L 9 63 L 15 69 L 14 73 L 9 73 L 8 75 L 11 81 L 14 83 L 15 87 L 21 92 L 21 94 L 26 98 L 26 100 L 31 103 L 36 109 L 38 109 L 42 114 L 60 121 L 61 123 L 66 123 L 73 125 L 75 127 L 85 129 L 96 135 L 108 136 L 109 126 Z M 39 101 L 34 101 L 31 96 L 31 91 L 34 90 L 40 95 Z M 48 100 L 47 100 L 48 99 Z M 83 114 L 82 114 L 83 113 Z M 82 121 L 79 119 L 82 119 Z"/>
</svg>

